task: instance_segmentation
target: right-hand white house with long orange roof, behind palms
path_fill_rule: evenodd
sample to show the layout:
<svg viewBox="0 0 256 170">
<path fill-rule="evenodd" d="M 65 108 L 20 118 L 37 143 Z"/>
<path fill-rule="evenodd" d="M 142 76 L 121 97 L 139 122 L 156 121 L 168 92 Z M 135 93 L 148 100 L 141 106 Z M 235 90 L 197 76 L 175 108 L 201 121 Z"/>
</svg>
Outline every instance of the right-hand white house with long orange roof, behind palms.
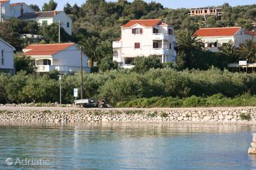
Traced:
<svg viewBox="0 0 256 170">
<path fill-rule="evenodd" d="M 204 47 L 212 52 L 219 51 L 225 43 L 238 48 L 247 39 L 256 40 L 254 32 L 246 31 L 242 27 L 201 28 L 195 34 Z"/>
</svg>

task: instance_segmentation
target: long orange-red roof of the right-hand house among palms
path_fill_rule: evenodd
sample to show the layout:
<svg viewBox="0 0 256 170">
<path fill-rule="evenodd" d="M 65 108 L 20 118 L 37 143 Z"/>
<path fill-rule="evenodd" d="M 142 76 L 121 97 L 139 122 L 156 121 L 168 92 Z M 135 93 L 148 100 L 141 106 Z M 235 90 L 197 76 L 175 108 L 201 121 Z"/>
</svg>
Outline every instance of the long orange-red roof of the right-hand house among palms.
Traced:
<svg viewBox="0 0 256 170">
<path fill-rule="evenodd" d="M 196 31 L 196 36 L 234 36 L 241 27 L 201 28 Z"/>
</svg>

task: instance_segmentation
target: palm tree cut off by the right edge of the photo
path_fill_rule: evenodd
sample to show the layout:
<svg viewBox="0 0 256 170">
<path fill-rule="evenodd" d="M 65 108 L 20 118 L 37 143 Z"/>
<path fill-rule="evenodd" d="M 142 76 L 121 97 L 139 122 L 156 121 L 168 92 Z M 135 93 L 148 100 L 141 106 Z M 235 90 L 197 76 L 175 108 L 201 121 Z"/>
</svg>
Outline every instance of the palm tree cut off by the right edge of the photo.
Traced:
<svg viewBox="0 0 256 170">
<path fill-rule="evenodd" d="M 245 40 L 238 48 L 238 55 L 241 59 L 246 59 L 248 62 L 256 62 L 255 41 L 252 39 Z"/>
</svg>

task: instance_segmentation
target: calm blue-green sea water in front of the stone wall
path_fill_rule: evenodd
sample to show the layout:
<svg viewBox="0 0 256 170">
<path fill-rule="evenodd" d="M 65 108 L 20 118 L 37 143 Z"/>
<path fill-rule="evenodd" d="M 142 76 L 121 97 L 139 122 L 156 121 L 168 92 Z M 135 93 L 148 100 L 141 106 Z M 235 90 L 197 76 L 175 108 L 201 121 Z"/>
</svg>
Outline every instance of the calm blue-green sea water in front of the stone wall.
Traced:
<svg viewBox="0 0 256 170">
<path fill-rule="evenodd" d="M 256 127 L 0 125 L 0 169 L 256 169 Z"/>
</svg>

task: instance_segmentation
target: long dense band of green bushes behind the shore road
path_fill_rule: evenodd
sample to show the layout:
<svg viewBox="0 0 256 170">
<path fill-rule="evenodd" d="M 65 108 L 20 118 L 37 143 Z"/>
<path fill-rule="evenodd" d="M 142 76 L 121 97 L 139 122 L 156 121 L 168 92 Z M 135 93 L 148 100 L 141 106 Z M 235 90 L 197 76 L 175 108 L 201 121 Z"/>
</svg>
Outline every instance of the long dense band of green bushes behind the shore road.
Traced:
<svg viewBox="0 0 256 170">
<path fill-rule="evenodd" d="M 256 74 L 151 69 L 145 73 L 113 70 L 84 73 L 84 97 L 107 99 L 112 105 L 140 107 L 254 106 Z M 74 102 L 73 89 L 81 86 L 79 73 L 62 76 L 62 102 Z M 79 90 L 80 92 L 80 90 Z M 54 76 L 0 75 L 0 102 L 59 101 Z"/>
</svg>

